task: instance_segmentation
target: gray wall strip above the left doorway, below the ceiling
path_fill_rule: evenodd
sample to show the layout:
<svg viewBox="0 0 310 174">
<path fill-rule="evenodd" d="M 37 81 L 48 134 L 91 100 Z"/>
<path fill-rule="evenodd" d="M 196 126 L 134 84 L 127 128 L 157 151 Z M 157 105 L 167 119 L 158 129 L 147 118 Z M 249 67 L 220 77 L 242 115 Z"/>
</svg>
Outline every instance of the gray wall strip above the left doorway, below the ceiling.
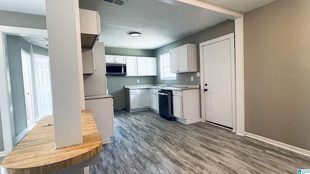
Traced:
<svg viewBox="0 0 310 174">
<path fill-rule="evenodd" d="M 47 29 L 46 17 L 35 14 L 24 14 L 0 10 L 0 25 L 24 27 L 34 29 Z"/>
</svg>

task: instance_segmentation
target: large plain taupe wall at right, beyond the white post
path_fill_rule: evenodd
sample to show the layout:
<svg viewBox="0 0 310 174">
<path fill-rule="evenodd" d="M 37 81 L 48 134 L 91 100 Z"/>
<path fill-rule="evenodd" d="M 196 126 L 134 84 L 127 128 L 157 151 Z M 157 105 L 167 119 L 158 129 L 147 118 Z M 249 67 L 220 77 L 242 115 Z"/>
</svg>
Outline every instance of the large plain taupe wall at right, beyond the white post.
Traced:
<svg viewBox="0 0 310 174">
<path fill-rule="evenodd" d="M 310 1 L 244 15 L 245 129 L 310 150 Z"/>
</svg>

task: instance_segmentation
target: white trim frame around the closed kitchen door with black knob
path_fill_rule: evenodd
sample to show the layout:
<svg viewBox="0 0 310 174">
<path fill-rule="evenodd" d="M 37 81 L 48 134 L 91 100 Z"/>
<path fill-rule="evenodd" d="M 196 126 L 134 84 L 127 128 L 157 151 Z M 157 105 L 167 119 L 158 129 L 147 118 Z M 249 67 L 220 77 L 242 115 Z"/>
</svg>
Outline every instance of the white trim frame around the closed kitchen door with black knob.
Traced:
<svg viewBox="0 0 310 174">
<path fill-rule="evenodd" d="M 233 117 L 233 132 L 236 132 L 236 128 L 237 128 L 237 124 L 239 124 L 237 122 L 237 118 L 236 118 L 236 82 L 235 82 L 235 49 L 233 49 L 235 47 L 235 40 L 234 40 L 234 33 L 230 33 L 230 34 L 226 34 L 224 36 L 203 42 L 203 43 L 199 43 L 199 52 L 200 52 L 200 93 L 201 93 L 201 109 L 202 109 L 202 122 L 206 121 L 205 118 L 205 98 L 204 98 L 204 59 L 203 59 L 203 49 L 202 47 L 204 45 L 208 45 L 208 44 L 212 44 L 212 43 L 217 43 L 220 41 L 224 41 L 224 40 L 230 40 L 230 45 L 231 45 L 231 74 L 232 74 L 232 117 Z M 244 124 L 242 122 L 240 122 L 240 124 Z"/>
</svg>

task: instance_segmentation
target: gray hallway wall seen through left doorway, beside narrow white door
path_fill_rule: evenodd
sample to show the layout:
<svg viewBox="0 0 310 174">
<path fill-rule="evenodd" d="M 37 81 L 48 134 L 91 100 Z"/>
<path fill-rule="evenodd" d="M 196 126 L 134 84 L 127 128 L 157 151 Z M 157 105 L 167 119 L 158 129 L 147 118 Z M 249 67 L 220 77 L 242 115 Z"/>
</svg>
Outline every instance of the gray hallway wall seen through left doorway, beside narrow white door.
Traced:
<svg viewBox="0 0 310 174">
<path fill-rule="evenodd" d="M 17 136 L 27 128 L 20 48 L 31 53 L 31 47 L 30 43 L 20 36 L 7 35 L 6 39 L 11 82 L 9 89 L 12 92 L 15 136 Z"/>
</svg>

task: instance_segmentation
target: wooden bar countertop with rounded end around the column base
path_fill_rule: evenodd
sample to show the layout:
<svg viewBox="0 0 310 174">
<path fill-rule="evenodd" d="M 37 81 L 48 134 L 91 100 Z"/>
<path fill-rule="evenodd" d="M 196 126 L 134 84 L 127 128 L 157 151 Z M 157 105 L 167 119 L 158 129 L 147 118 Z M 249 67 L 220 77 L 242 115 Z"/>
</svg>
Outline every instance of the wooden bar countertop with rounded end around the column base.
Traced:
<svg viewBox="0 0 310 174">
<path fill-rule="evenodd" d="M 6 174 L 46 174 L 88 160 L 102 149 L 92 112 L 82 111 L 83 144 L 55 149 L 53 116 L 45 116 L 1 162 Z M 70 125 L 68 125 L 70 126 Z M 68 137 L 69 138 L 69 137 Z"/>
</svg>

